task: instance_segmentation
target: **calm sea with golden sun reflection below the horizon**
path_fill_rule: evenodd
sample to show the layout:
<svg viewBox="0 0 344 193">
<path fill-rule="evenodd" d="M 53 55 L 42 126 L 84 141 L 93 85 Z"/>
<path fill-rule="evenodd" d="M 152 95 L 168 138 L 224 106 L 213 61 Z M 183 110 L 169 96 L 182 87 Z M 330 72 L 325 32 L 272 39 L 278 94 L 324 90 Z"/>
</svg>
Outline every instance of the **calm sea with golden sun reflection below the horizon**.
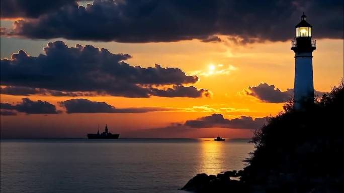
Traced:
<svg viewBox="0 0 344 193">
<path fill-rule="evenodd" d="M 197 173 L 242 169 L 252 150 L 246 140 L 1 140 L 0 191 L 183 193 Z"/>
</svg>

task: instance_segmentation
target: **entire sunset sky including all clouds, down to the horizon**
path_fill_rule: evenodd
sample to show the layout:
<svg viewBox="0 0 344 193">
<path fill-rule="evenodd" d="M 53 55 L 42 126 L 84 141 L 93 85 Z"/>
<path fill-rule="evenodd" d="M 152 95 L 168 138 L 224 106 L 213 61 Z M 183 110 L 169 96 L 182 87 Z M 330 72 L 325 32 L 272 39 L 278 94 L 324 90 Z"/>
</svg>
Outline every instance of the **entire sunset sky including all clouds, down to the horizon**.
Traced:
<svg viewBox="0 0 344 193">
<path fill-rule="evenodd" d="M 251 137 L 293 93 L 302 12 L 316 94 L 343 77 L 342 1 L 27 4 L 1 1 L 2 138 Z"/>
</svg>

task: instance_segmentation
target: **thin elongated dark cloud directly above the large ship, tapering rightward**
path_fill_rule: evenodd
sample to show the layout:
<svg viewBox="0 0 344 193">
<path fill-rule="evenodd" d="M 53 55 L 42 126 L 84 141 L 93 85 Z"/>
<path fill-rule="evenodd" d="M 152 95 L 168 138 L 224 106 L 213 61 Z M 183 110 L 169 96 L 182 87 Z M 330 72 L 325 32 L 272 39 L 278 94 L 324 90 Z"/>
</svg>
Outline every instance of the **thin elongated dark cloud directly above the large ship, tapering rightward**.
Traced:
<svg viewBox="0 0 344 193">
<path fill-rule="evenodd" d="M 137 108 L 115 108 L 105 102 L 90 101 L 87 99 L 71 99 L 59 102 L 67 113 L 145 113 L 151 111 L 169 111 L 173 108 L 164 107 L 137 107 Z"/>
</svg>

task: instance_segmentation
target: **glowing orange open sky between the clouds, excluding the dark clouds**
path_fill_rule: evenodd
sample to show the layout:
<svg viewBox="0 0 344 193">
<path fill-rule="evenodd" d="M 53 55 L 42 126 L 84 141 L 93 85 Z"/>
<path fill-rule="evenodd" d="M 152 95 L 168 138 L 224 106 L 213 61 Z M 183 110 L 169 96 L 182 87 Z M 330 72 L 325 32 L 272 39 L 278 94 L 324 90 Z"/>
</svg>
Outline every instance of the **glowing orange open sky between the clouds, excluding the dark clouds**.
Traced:
<svg viewBox="0 0 344 193">
<path fill-rule="evenodd" d="M 226 38 L 222 37 L 222 39 Z M 1 49 L 6 49 L 8 53 L 18 52 L 21 49 L 16 45 L 7 47 L 6 45 L 11 42 L 39 45 L 40 49 L 37 49 L 37 46 L 29 50 L 24 49 L 32 56 L 43 53 L 43 46 L 54 41 L 18 40 L 5 37 L 1 40 Z M 293 88 L 294 84 L 294 53 L 290 50 L 289 41 L 247 45 L 235 45 L 231 42 L 202 43 L 198 40 L 145 44 L 64 41 L 68 46 L 75 46 L 76 43 L 91 44 L 107 48 L 112 53 L 130 54 L 133 58 L 126 62 L 132 66 L 148 67 L 161 64 L 162 67 L 180 68 L 188 75 L 199 76 L 200 80 L 194 86 L 208 89 L 213 95 L 211 98 L 82 97 L 106 102 L 116 108 L 173 107 L 179 110 L 135 114 L 66 114 L 64 112 L 54 115 L 26 115 L 21 113 L 17 116 L 1 116 L 2 134 L 10 131 L 13 134 L 13 130 L 17 129 L 23 134 L 43 133 L 43 136 L 47 137 L 84 137 L 85 133 L 96 131 L 98 124 L 108 124 L 110 130 L 121 133 L 122 137 L 140 137 L 138 131 L 142 129 L 164 127 L 176 122 L 183 123 L 214 112 L 221 112 L 229 119 L 241 115 L 264 117 L 281 111 L 283 104 L 261 102 L 245 96 L 242 90 L 265 82 L 285 91 L 287 88 Z M 2 58 L 10 57 L 6 52 L 2 52 Z M 343 40 L 317 40 L 317 49 L 313 52 L 313 56 L 314 88 L 318 91 L 329 91 L 330 87 L 336 85 L 343 77 Z M 21 98 L 24 96 L 2 94 L 1 102 L 19 102 Z M 29 98 L 34 101 L 48 101 L 58 107 L 58 101 L 73 97 L 30 96 Z M 199 110 L 200 108 L 196 110 L 196 107 L 201 107 L 203 110 Z M 228 138 L 244 138 L 252 135 L 249 129 L 204 128 L 184 133 L 166 132 L 165 136 L 151 133 L 144 137 L 213 137 L 218 133 Z"/>
</svg>

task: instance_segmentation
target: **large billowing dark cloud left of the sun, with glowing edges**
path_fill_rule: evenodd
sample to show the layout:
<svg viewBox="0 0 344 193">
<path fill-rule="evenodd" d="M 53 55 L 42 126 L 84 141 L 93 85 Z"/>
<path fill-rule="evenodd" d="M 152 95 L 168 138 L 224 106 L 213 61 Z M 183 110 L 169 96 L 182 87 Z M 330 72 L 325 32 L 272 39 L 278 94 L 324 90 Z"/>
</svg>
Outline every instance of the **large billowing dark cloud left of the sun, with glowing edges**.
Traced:
<svg viewBox="0 0 344 193">
<path fill-rule="evenodd" d="M 53 96 L 79 96 L 77 92 L 124 97 L 210 95 L 207 90 L 183 86 L 196 83 L 197 76 L 157 64 L 148 68 L 130 66 L 123 62 L 131 58 L 128 54 L 112 54 L 90 45 L 68 48 L 62 41 L 49 43 L 44 52 L 32 57 L 20 50 L 11 59 L 1 59 L 1 84 L 12 86 L 2 92 Z M 168 89 L 158 89 L 162 87 Z"/>
</svg>

